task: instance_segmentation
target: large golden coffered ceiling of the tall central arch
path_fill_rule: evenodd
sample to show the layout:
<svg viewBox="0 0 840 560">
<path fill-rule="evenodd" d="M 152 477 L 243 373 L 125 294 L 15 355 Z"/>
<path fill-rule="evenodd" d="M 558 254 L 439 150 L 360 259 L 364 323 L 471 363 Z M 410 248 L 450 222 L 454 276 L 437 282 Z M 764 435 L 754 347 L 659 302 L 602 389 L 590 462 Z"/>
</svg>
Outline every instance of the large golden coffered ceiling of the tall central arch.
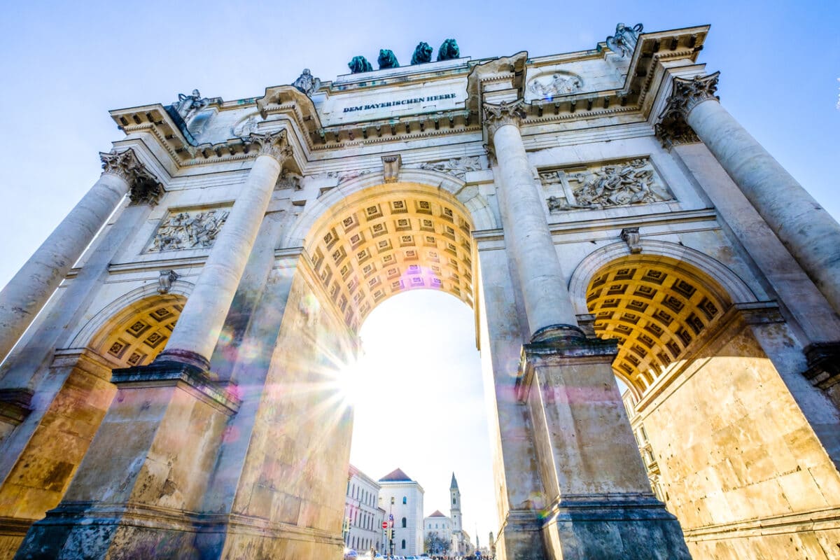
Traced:
<svg viewBox="0 0 840 560">
<path fill-rule="evenodd" d="M 358 331 L 375 306 L 407 290 L 441 290 L 473 306 L 472 230 L 449 192 L 386 183 L 330 208 L 305 247 L 328 297 Z"/>
</svg>

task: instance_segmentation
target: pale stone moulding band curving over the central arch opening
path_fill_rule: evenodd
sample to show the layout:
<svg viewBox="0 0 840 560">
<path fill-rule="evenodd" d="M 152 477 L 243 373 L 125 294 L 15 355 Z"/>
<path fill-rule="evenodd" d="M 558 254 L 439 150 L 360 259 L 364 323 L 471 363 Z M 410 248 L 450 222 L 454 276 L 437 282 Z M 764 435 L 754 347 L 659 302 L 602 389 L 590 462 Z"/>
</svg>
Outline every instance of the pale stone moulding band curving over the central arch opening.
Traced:
<svg viewBox="0 0 840 560">
<path fill-rule="evenodd" d="M 325 212 L 345 204 L 349 197 L 360 191 L 385 184 L 385 177 L 381 172 L 368 173 L 340 183 L 339 186 L 318 197 L 318 200 L 308 202 L 297 223 L 284 236 L 281 247 L 302 247 L 307 234 L 312 231 L 315 223 Z M 436 170 L 402 169 L 399 182 L 387 183 L 395 189 L 402 184 L 427 186 L 454 196 L 469 212 L 470 220 L 476 230 L 501 228 L 501 222 L 491 210 L 487 197 L 480 192 L 478 186 L 468 186 L 465 181 L 454 175 Z"/>
</svg>

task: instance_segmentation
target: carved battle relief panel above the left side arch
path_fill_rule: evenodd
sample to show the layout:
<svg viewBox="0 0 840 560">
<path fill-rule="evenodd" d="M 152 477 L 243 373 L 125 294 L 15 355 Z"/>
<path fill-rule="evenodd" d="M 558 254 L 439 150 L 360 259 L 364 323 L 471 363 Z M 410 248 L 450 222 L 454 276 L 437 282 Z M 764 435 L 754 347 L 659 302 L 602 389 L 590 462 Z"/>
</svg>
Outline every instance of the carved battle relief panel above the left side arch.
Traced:
<svg viewBox="0 0 840 560">
<path fill-rule="evenodd" d="M 170 212 L 158 226 L 147 252 L 212 247 L 228 210 Z"/>
</svg>

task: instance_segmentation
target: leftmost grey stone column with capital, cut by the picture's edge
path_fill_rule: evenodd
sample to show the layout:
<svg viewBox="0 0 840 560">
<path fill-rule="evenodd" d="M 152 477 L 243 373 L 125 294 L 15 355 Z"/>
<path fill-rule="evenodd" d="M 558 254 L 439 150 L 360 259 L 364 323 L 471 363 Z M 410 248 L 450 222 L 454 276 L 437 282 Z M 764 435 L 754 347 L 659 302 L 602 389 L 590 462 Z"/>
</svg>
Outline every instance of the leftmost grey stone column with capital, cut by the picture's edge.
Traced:
<svg viewBox="0 0 840 560">
<path fill-rule="evenodd" d="M 104 170 L 99 181 L 0 292 L 0 359 L 18 342 L 129 187 L 162 189 L 139 162 L 134 149 L 99 156 Z"/>
</svg>

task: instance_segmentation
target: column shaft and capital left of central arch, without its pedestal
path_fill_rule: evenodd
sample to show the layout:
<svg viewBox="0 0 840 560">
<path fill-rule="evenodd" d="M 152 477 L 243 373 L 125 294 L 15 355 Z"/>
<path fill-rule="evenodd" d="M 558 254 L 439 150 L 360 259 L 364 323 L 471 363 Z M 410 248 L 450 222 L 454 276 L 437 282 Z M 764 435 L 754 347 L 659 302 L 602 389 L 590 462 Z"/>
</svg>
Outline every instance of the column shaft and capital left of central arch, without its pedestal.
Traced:
<svg viewBox="0 0 840 560">
<path fill-rule="evenodd" d="M 282 163 L 291 154 L 285 138 L 285 132 L 251 136 L 260 143 L 260 154 L 158 361 L 174 359 L 202 369 L 209 366 Z"/>
</svg>

